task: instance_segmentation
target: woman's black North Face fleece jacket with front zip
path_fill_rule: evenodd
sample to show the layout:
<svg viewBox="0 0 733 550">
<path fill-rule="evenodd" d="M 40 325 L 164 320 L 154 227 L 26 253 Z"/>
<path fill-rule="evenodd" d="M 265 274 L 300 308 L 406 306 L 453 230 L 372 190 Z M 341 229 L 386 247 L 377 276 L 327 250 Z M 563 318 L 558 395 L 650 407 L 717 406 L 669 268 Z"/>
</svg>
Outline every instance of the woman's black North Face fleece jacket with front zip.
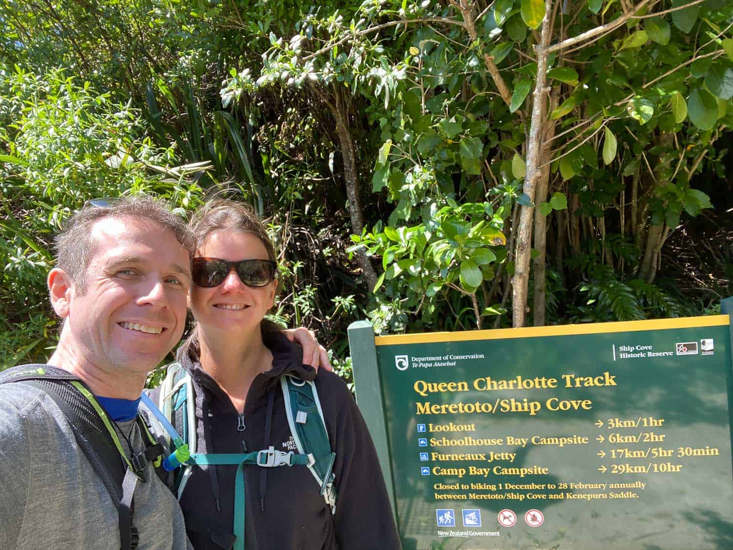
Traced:
<svg viewBox="0 0 733 550">
<path fill-rule="evenodd" d="M 336 452 L 338 499 L 333 516 L 306 466 L 246 466 L 246 549 L 399 549 L 377 453 L 346 384 L 325 370 L 316 376 L 284 334 L 263 332 L 263 338 L 273 353 L 273 368 L 254 378 L 243 414 L 237 414 L 196 356 L 183 357 L 196 390 L 197 452 L 251 452 L 270 445 L 297 452 L 279 378 L 295 374 L 315 380 L 331 450 Z M 180 505 L 196 550 L 232 548 L 236 469 L 194 466 Z"/>
</svg>

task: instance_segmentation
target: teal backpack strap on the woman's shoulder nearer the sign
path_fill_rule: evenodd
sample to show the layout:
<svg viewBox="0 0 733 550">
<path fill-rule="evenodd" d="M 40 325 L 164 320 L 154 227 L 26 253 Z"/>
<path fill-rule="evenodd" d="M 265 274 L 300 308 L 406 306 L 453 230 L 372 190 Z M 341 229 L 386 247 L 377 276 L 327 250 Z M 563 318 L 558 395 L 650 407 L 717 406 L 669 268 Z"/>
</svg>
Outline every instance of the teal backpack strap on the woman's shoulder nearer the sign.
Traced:
<svg viewBox="0 0 733 550">
<path fill-rule="evenodd" d="M 326 504 L 331 507 L 331 513 L 336 513 L 336 453 L 331 452 L 316 386 L 312 381 L 303 381 L 292 375 L 281 376 L 280 386 L 295 446 L 298 452 L 310 457 L 308 469 L 320 486 L 320 494 Z"/>
</svg>

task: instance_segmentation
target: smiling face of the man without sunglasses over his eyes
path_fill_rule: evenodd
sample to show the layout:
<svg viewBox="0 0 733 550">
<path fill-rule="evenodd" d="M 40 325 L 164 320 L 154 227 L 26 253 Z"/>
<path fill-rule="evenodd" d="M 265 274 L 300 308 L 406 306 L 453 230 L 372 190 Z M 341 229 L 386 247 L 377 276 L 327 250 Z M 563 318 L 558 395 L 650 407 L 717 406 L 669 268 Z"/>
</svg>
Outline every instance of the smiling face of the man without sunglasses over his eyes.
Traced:
<svg viewBox="0 0 733 550">
<path fill-rule="evenodd" d="M 188 252 L 171 230 L 134 217 L 101 219 L 90 238 L 86 293 L 73 285 L 66 320 L 75 355 L 105 372 L 147 373 L 183 334 Z"/>
</svg>

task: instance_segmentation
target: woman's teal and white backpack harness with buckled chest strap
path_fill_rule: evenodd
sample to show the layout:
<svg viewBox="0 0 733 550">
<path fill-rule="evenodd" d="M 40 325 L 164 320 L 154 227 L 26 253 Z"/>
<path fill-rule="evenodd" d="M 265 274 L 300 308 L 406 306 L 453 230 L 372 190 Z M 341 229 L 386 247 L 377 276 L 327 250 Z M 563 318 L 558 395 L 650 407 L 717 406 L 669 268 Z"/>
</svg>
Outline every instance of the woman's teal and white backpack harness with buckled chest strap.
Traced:
<svg viewBox="0 0 733 550">
<path fill-rule="evenodd" d="M 320 494 L 331 513 L 336 512 L 336 487 L 333 473 L 336 453 L 331 452 L 331 442 L 325 429 L 323 410 L 318 392 L 312 381 L 303 381 L 293 375 L 282 375 L 280 387 L 285 401 L 287 422 L 298 453 L 284 452 L 269 447 L 265 450 L 241 454 L 196 453 L 196 397 L 194 382 L 180 363 L 168 367 L 166 378 L 157 393 L 154 403 L 149 395 L 143 394 L 142 405 L 151 413 L 150 422 L 158 423 L 158 433 L 166 433 L 172 455 L 177 449 L 186 447 L 181 468 L 177 469 L 172 486 L 173 493 L 180 500 L 191 476 L 194 465 L 229 464 L 237 465 L 235 478 L 235 525 L 237 537 L 235 550 L 243 549 L 244 540 L 244 471 L 252 464 L 262 468 L 277 466 L 307 466 L 320 487 Z M 153 394 L 155 396 L 155 393 Z"/>
</svg>

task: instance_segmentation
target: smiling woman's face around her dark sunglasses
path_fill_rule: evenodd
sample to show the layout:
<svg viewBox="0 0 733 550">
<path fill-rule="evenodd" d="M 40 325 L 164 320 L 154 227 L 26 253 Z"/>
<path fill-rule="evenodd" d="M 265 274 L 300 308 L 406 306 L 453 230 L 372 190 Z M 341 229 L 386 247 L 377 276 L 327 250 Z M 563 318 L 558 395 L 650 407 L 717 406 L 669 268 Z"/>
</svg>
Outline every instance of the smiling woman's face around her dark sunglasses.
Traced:
<svg viewBox="0 0 733 550">
<path fill-rule="evenodd" d="M 270 259 L 259 238 L 250 233 L 229 231 L 210 234 L 196 250 L 196 256 L 229 261 Z M 276 288 L 276 280 L 265 287 L 248 287 L 232 270 L 217 287 L 191 285 L 188 305 L 204 333 L 241 333 L 259 327 L 259 322 L 273 306 Z"/>
</svg>

